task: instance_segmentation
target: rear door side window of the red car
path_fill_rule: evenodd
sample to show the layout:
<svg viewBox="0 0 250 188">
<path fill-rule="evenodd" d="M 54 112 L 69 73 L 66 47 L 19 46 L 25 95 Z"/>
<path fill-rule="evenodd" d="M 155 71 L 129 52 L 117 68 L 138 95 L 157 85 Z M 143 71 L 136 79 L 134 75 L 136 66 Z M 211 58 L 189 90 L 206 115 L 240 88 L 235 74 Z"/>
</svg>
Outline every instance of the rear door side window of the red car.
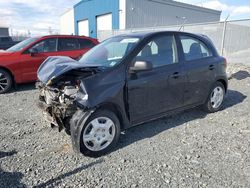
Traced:
<svg viewBox="0 0 250 188">
<path fill-rule="evenodd" d="M 58 51 L 69 51 L 80 49 L 78 39 L 76 38 L 59 38 Z"/>
</svg>

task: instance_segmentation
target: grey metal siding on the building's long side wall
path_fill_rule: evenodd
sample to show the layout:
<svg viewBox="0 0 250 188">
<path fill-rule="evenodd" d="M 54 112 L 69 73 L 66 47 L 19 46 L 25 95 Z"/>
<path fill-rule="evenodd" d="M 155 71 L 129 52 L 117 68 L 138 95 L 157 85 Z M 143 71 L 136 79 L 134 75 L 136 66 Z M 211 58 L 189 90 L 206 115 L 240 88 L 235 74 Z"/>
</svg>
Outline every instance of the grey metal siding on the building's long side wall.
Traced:
<svg viewBox="0 0 250 188">
<path fill-rule="evenodd" d="M 168 0 L 127 0 L 126 29 L 220 20 L 220 11 Z"/>
</svg>

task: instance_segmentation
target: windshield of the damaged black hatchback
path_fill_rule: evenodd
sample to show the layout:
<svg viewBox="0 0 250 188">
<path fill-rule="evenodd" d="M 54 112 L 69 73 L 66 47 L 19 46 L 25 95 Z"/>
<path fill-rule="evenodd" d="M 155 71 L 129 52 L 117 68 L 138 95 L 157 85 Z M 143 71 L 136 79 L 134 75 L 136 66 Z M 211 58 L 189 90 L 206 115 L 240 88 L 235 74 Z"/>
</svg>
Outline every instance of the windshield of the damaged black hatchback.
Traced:
<svg viewBox="0 0 250 188">
<path fill-rule="evenodd" d="M 79 61 L 98 67 L 113 67 L 139 42 L 135 37 L 114 37 L 88 51 Z"/>
</svg>

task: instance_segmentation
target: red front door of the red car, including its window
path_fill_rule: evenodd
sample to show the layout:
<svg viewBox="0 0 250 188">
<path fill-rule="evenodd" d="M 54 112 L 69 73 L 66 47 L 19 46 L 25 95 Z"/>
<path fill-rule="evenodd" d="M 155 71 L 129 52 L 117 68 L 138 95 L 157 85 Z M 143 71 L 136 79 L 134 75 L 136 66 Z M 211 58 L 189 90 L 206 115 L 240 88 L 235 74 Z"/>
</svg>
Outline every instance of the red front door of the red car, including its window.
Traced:
<svg viewBox="0 0 250 188">
<path fill-rule="evenodd" d="M 30 49 L 36 53 L 31 54 Z M 23 82 L 36 81 L 37 70 L 43 61 L 49 56 L 57 55 L 57 38 L 41 40 L 30 49 L 21 54 L 20 58 Z"/>
</svg>

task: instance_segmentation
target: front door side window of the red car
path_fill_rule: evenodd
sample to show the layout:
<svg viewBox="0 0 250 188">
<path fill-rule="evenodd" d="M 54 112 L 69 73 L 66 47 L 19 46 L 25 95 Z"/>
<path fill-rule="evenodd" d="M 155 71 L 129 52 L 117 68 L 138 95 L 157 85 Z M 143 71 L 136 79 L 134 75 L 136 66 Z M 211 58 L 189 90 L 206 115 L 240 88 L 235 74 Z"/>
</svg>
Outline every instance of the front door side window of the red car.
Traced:
<svg viewBox="0 0 250 188">
<path fill-rule="evenodd" d="M 36 49 L 38 53 L 55 52 L 56 51 L 56 38 L 45 39 L 35 44 L 31 49 Z"/>
</svg>

